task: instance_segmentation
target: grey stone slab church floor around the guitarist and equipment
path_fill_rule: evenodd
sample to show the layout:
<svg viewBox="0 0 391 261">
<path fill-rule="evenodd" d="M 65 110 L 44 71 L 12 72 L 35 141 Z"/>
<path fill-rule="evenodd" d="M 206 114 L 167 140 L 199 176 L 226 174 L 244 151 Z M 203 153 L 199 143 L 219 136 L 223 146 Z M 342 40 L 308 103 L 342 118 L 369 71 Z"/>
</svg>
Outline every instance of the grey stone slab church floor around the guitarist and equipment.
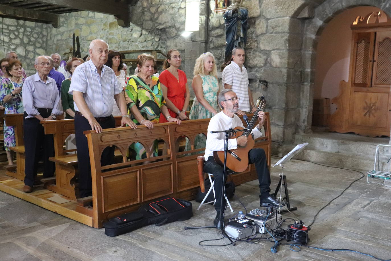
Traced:
<svg viewBox="0 0 391 261">
<path fill-rule="evenodd" d="M 272 163 L 278 158 L 273 157 Z M 285 165 L 293 213 L 307 225 L 321 207 L 338 196 L 361 173 L 323 167 L 293 160 Z M 371 166 L 368 166 L 369 170 Z M 279 167 L 272 168 L 274 191 Z M 366 173 L 365 173 L 366 174 Z M 391 184 L 391 181 L 390 183 Z M 248 211 L 259 207 L 257 181 L 236 188 L 236 195 Z M 391 258 L 390 188 L 366 183 L 366 176 L 353 183 L 317 216 L 309 231 L 308 245 L 320 248 L 350 248 Z M 330 252 L 303 248 L 294 252 L 280 245 L 273 254 L 274 243 L 238 242 L 236 246 L 202 247 L 199 241 L 221 238 L 216 229 L 184 230 L 184 226 L 211 225 L 215 216 L 212 205 L 197 211 L 194 217 L 161 227 L 148 226 L 110 238 L 104 229 L 94 229 L 0 192 L 0 259 L 1 260 L 375 260 L 352 252 Z M 239 201 L 231 200 L 234 212 L 244 210 Z M 295 218 L 284 213 L 283 218 Z M 228 239 L 210 244 L 225 245 Z"/>
</svg>

